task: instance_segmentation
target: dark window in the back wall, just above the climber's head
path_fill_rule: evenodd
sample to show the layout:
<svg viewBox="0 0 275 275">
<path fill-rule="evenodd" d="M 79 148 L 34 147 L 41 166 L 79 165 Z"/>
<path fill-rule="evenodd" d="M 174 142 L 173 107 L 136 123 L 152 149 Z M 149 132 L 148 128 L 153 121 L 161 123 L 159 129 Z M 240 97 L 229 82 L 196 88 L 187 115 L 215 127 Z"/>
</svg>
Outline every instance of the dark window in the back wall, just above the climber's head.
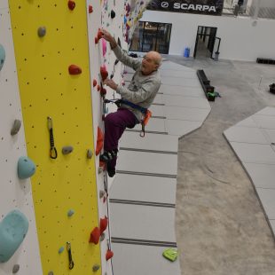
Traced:
<svg viewBox="0 0 275 275">
<path fill-rule="evenodd" d="M 130 51 L 168 54 L 171 29 L 172 24 L 139 21 L 130 43 Z"/>
</svg>

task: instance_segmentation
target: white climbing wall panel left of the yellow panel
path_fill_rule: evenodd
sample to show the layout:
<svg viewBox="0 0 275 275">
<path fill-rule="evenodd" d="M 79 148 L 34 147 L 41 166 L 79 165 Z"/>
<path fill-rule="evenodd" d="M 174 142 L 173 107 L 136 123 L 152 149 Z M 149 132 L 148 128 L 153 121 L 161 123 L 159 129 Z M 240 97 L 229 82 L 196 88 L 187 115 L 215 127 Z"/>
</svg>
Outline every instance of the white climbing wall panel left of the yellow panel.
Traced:
<svg viewBox="0 0 275 275">
<path fill-rule="evenodd" d="M 0 275 L 12 274 L 15 264 L 20 265 L 19 274 L 40 275 L 42 268 L 31 185 L 29 179 L 20 180 L 17 176 L 17 162 L 20 156 L 27 155 L 24 125 L 17 135 L 11 136 L 13 122 L 15 119 L 22 122 L 22 114 L 7 0 L 0 1 L 0 44 L 4 46 L 6 55 L 0 71 L 0 223 L 13 209 L 27 216 L 29 223 L 20 248 L 7 263 L 0 263 Z"/>
</svg>

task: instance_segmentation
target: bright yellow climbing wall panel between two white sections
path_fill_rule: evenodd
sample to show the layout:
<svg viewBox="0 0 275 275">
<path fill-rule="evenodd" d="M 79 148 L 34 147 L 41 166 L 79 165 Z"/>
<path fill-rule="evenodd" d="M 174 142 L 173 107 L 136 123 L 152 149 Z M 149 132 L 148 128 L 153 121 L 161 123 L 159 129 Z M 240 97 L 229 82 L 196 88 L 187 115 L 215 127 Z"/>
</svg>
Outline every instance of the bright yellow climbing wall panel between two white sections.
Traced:
<svg viewBox="0 0 275 275">
<path fill-rule="evenodd" d="M 94 152 L 86 3 L 76 1 L 70 11 L 65 0 L 10 0 L 10 9 L 27 153 L 37 166 L 31 182 L 43 274 L 93 274 L 100 251 L 88 242 L 98 226 L 98 201 L 95 161 L 86 158 L 87 149 Z M 39 27 L 46 27 L 42 38 Z M 71 64 L 83 73 L 69 75 Z M 48 116 L 56 160 L 49 156 Z M 73 153 L 63 155 L 65 145 L 72 145 Z M 69 209 L 74 216 L 67 216 Z M 72 271 L 67 251 L 59 255 L 67 241 Z"/>
</svg>

